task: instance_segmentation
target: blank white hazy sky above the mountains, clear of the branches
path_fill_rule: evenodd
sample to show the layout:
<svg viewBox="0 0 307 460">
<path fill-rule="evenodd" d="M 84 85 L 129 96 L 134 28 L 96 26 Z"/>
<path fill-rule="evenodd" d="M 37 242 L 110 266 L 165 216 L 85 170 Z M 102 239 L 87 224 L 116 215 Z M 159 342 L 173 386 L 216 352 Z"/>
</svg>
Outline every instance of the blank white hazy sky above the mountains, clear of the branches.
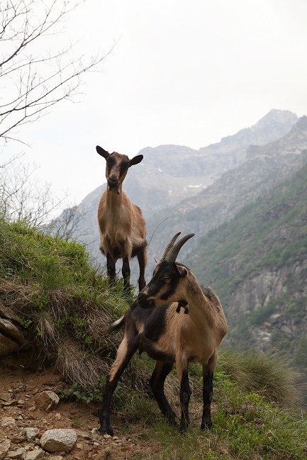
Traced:
<svg viewBox="0 0 307 460">
<path fill-rule="evenodd" d="M 79 103 L 25 125 L 7 152 L 41 167 L 79 203 L 104 182 L 105 150 L 194 149 L 272 108 L 307 114 L 306 0 L 86 0 L 67 22 L 76 53 L 115 48 L 84 78 Z M 52 38 L 50 38 L 50 47 Z"/>
</svg>

